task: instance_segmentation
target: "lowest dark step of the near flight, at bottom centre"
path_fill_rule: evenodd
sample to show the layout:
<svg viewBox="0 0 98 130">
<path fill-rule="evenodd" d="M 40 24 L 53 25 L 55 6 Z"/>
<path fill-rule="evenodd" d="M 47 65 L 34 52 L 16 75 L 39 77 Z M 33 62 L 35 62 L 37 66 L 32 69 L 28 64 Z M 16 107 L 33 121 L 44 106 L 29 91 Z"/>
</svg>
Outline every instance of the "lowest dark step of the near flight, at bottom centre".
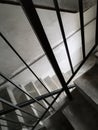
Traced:
<svg viewBox="0 0 98 130">
<path fill-rule="evenodd" d="M 44 125 L 49 130 L 74 130 L 70 122 L 61 111 L 57 111 L 44 121 Z"/>
</svg>

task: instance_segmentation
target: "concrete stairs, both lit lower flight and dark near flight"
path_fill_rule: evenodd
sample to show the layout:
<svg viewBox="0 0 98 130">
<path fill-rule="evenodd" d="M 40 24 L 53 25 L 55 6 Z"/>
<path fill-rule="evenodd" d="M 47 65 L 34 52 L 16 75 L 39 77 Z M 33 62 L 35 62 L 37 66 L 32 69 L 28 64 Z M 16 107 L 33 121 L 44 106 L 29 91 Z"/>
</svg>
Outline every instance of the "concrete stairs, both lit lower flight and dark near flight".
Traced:
<svg viewBox="0 0 98 130">
<path fill-rule="evenodd" d="M 91 56 L 82 68 L 82 71 L 80 71 L 75 77 L 74 84 L 76 87 L 71 90 L 73 100 L 69 101 L 65 93 L 63 93 L 53 105 L 53 108 L 56 111 L 52 110 L 51 108 L 42 120 L 42 123 L 36 127 L 36 130 L 98 130 L 98 64 L 95 64 L 95 62 L 96 58 Z M 69 73 L 70 72 L 68 72 L 68 75 Z M 47 88 L 50 92 L 61 88 L 61 85 L 56 76 L 48 76 L 45 79 L 41 79 L 41 81 L 47 85 Z M 33 95 L 33 97 L 47 93 L 47 90 L 45 90 L 45 88 L 40 85 L 39 81 L 34 83 L 30 82 L 26 86 L 21 86 L 21 88 L 29 94 Z M 9 102 L 12 102 L 13 104 L 19 104 L 30 99 L 17 88 L 10 89 L 10 87 L 2 89 L 0 91 L 0 96 Z M 52 100 L 52 97 L 47 99 L 49 103 L 51 103 Z M 48 104 L 44 100 L 40 101 L 40 103 L 45 107 L 48 107 Z M 1 106 L 4 110 L 10 108 L 4 103 L 1 104 Z M 38 117 L 40 117 L 44 112 L 44 109 L 37 103 L 26 106 L 22 109 L 29 111 L 31 114 Z M 28 125 L 32 125 L 37 121 L 35 118 L 29 117 L 20 110 L 10 112 L 2 117 L 6 117 L 9 120 L 14 119 L 16 122 L 22 122 Z M 13 124 L 9 121 L 4 122 L 2 119 L 0 120 L 0 123 L 3 125 L 6 124 L 8 126 L 0 127 L 1 130 L 32 129 L 30 126 L 23 127 L 21 124 Z"/>
</svg>

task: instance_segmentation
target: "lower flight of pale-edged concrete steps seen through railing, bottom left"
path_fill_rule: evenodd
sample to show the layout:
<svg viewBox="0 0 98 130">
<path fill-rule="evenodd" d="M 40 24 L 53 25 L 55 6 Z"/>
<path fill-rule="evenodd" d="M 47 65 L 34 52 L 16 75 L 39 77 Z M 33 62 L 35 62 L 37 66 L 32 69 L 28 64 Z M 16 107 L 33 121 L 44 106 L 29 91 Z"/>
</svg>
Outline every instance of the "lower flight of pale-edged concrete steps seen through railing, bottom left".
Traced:
<svg viewBox="0 0 98 130">
<path fill-rule="evenodd" d="M 61 88 L 61 86 L 58 87 L 58 84 L 55 83 L 56 81 L 53 80 L 49 76 L 46 77 L 45 79 L 41 79 L 41 81 L 45 85 L 47 85 L 47 89 L 49 92 L 52 92 L 54 90 Z M 28 94 L 33 96 L 33 98 L 48 93 L 48 91 L 40 84 L 40 82 L 38 80 L 34 83 L 29 82 L 25 86 L 20 86 L 20 88 L 22 88 L 22 90 L 24 90 L 25 92 L 27 92 Z M 5 99 L 8 102 L 14 104 L 14 105 L 21 104 L 22 102 L 30 100 L 30 97 L 28 97 L 27 95 L 22 93 L 19 89 L 15 88 L 15 87 L 13 88 L 12 86 L 8 86 L 8 87 L 1 89 L 0 90 L 0 97 Z M 46 99 L 49 104 L 53 101 L 54 97 L 55 96 L 53 96 L 53 97 L 51 96 L 51 97 Z M 55 110 L 58 108 L 60 100 L 64 97 L 65 97 L 65 95 L 63 95 L 57 99 L 57 101 L 52 106 L 52 108 L 49 110 L 49 112 L 47 112 L 47 114 L 45 115 L 44 119 L 49 117 L 51 115 L 51 113 L 55 112 Z M 49 104 L 47 104 L 47 102 L 45 102 L 45 100 L 41 100 L 40 103 L 46 108 L 49 105 Z M 1 111 L 9 110 L 11 108 L 4 103 L 1 103 L 1 106 L 2 106 Z M 29 112 L 32 115 L 37 116 L 37 117 L 40 117 L 45 111 L 37 103 L 23 107 L 22 110 Z M 8 119 L 8 121 L 0 118 L 0 123 L 2 125 L 4 125 L 4 126 L 0 127 L 1 130 L 13 130 L 13 129 L 15 129 L 15 130 L 28 130 L 28 129 L 31 129 L 32 128 L 31 126 L 33 126 L 33 124 L 37 121 L 35 118 L 30 117 L 29 115 L 27 115 L 26 113 L 24 113 L 20 110 L 9 112 L 8 114 L 5 114 L 4 117 L 5 117 L 5 119 Z M 25 126 L 25 125 L 22 126 L 21 124 L 17 124 L 17 123 L 15 124 L 13 122 L 10 122 L 9 120 L 11 120 L 11 121 L 14 120 L 17 123 L 21 122 L 22 124 L 23 123 L 27 124 L 27 126 Z M 40 124 L 42 125 L 43 123 L 40 123 Z M 37 126 L 37 129 L 41 129 L 40 124 Z M 46 128 L 44 128 L 44 129 L 46 129 Z"/>
</svg>

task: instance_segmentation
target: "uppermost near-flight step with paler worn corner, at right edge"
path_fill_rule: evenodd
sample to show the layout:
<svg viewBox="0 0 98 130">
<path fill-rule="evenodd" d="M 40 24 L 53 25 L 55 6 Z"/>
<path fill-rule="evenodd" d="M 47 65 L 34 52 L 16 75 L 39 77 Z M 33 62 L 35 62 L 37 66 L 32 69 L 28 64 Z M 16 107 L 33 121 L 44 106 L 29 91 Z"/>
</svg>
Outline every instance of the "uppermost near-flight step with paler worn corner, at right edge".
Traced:
<svg viewBox="0 0 98 130">
<path fill-rule="evenodd" d="M 76 79 L 74 83 L 92 105 L 98 108 L 98 64 Z"/>
</svg>

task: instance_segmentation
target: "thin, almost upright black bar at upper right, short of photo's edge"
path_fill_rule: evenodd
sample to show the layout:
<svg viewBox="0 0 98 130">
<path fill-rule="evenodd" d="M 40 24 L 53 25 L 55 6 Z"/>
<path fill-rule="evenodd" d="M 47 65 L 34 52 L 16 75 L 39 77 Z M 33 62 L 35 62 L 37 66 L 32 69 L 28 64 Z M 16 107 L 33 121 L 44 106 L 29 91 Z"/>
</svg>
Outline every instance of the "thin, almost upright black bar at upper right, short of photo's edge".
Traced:
<svg viewBox="0 0 98 130">
<path fill-rule="evenodd" d="M 81 38 L 82 38 L 82 53 L 84 59 L 85 58 L 85 34 L 84 34 L 83 0 L 79 0 L 79 16 L 80 16 Z"/>
</svg>

